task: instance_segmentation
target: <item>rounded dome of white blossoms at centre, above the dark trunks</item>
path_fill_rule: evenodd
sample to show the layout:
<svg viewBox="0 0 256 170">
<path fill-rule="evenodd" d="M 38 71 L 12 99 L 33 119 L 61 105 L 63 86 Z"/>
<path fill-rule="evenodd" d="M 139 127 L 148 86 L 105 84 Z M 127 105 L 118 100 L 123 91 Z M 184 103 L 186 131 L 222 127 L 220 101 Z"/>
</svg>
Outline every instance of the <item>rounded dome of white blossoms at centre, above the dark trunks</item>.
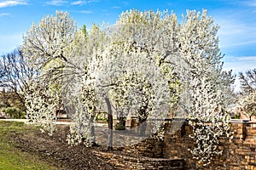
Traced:
<svg viewBox="0 0 256 170">
<path fill-rule="evenodd" d="M 140 119 L 151 119 L 155 125 L 152 131 L 156 133 L 160 121 L 154 120 L 163 122 L 172 97 L 160 68 L 143 54 L 127 54 L 120 59 L 108 59 L 103 64 L 96 76 L 99 100 L 103 102 L 108 96 L 113 107 L 125 112 L 125 116 L 137 113 Z"/>
</svg>

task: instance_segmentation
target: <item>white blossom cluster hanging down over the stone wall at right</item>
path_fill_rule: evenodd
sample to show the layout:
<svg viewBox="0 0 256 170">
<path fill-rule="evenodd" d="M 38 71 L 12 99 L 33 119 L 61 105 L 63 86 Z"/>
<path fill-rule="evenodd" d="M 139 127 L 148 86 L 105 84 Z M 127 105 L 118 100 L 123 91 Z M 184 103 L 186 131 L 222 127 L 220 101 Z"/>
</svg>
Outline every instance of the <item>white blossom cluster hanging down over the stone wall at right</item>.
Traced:
<svg viewBox="0 0 256 170">
<path fill-rule="evenodd" d="M 199 163 L 207 165 L 212 157 L 222 154 L 223 150 L 218 150 L 219 138 L 230 136 L 230 115 L 225 111 L 222 92 L 211 81 L 195 78 L 191 84 L 189 124 L 194 132 L 190 137 L 195 141 L 191 153 Z"/>
</svg>

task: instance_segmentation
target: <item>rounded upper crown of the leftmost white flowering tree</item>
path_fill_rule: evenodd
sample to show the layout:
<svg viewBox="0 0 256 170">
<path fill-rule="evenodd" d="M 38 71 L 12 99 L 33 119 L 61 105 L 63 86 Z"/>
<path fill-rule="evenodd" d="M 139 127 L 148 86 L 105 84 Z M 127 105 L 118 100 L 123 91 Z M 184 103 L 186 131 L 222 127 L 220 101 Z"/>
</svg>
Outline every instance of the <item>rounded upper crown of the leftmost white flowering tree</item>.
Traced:
<svg viewBox="0 0 256 170">
<path fill-rule="evenodd" d="M 69 14 L 56 11 L 55 16 L 46 15 L 33 24 L 23 37 L 21 51 L 34 68 L 42 69 L 49 62 L 59 59 L 67 61 L 76 32 L 75 22 Z"/>
</svg>

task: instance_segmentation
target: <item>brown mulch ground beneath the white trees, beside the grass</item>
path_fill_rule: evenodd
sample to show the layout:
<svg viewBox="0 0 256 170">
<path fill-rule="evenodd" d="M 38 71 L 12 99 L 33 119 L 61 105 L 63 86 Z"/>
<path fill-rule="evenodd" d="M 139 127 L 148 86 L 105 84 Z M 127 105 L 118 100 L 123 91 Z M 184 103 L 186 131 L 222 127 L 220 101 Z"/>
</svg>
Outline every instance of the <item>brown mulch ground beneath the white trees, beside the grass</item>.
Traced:
<svg viewBox="0 0 256 170">
<path fill-rule="evenodd" d="M 16 121 L 16 120 L 15 120 Z M 20 122 L 24 122 L 21 120 Z M 57 130 L 52 136 L 47 133 L 41 133 L 39 128 L 26 122 L 23 133 L 14 133 L 10 135 L 11 140 L 15 140 L 20 150 L 37 154 L 49 164 L 63 170 L 109 170 L 117 169 L 103 161 L 95 155 L 95 151 L 108 152 L 108 127 L 107 124 L 96 123 L 96 144 L 97 146 L 85 147 L 84 145 L 71 146 L 67 144 L 67 134 L 69 133 L 70 122 L 59 122 Z M 137 144 L 148 135 L 138 136 L 135 129 L 127 128 L 124 131 L 113 130 L 113 149 L 118 155 L 136 157 L 132 153 L 122 151 L 125 146 Z"/>
</svg>

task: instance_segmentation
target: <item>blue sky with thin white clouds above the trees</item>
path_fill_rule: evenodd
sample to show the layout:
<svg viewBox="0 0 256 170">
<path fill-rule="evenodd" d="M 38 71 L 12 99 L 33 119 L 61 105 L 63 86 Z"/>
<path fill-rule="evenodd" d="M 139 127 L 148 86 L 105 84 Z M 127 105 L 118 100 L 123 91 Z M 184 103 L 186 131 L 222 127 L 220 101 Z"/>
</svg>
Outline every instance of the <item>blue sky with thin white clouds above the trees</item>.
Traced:
<svg viewBox="0 0 256 170">
<path fill-rule="evenodd" d="M 22 34 L 38 23 L 45 14 L 67 11 L 78 26 L 90 28 L 92 23 L 113 24 L 122 11 L 157 9 L 173 11 L 181 19 L 186 9 L 212 15 L 220 26 L 219 45 L 224 69 L 234 73 L 256 68 L 256 0 L 0 0 L 0 55 L 12 52 L 22 42 Z"/>
</svg>

